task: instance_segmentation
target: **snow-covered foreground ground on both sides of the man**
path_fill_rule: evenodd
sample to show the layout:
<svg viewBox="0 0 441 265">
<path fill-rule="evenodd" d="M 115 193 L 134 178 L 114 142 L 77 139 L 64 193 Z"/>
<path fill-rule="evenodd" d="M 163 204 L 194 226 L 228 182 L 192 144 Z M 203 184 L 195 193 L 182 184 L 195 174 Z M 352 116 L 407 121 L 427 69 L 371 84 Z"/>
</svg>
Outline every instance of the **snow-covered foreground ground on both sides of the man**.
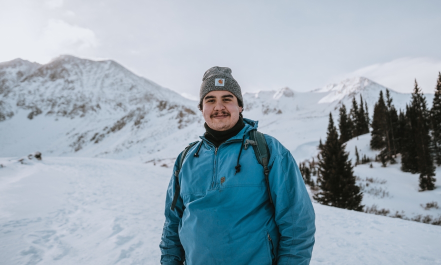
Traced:
<svg viewBox="0 0 441 265">
<path fill-rule="evenodd" d="M 158 264 L 171 168 L 0 158 L 1 264 Z M 313 203 L 311 264 L 439 264 L 441 226 Z"/>
</svg>

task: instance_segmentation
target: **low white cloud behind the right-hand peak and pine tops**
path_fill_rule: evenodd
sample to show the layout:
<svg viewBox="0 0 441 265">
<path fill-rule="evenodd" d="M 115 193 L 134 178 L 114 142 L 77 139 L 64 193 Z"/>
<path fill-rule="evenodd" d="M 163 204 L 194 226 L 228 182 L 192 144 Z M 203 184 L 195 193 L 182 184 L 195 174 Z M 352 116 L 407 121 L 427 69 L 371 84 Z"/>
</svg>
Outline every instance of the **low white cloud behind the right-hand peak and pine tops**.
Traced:
<svg viewBox="0 0 441 265">
<path fill-rule="evenodd" d="M 441 60 L 427 57 L 404 57 L 372 64 L 344 77 L 364 76 L 398 92 L 411 92 L 414 79 L 424 93 L 433 93 L 441 71 Z"/>
</svg>

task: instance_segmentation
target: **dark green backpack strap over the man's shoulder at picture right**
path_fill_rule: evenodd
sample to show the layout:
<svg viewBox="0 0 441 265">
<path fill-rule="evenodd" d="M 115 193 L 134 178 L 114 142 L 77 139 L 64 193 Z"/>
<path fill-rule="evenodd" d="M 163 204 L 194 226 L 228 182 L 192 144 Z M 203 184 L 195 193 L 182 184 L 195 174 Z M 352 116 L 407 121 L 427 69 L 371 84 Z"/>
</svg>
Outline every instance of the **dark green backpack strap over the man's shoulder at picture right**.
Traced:
<svg viewBox="0 0 441 265">
<path fill-rule="evenodd" d="M 268 161 L 269 161 L 269 149 L 268 144 L 266 143 L 265 136 L 260 131 L 255 129 L 250 131 L 249 135 L 250 140 L 245 141 L 245 149 L 248 147 L 248 143 L 252 145 L 254 149 L 255 157 L 259 164 L 263 166 L 263 172 L 265 173 L 266 187 L 268 188 L 269 194 L 269 202 L 272 203 L 271 190 L 269 189 L 269 169 L 268 169 Z"/>
</svg>

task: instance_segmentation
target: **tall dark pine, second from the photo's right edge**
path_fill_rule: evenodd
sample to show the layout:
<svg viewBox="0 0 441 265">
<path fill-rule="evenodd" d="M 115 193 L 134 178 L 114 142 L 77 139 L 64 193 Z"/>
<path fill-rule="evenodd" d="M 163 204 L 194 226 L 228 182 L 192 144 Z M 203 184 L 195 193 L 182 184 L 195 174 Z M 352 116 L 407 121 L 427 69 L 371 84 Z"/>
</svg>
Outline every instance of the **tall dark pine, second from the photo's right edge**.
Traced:
<svg viewBox="0 0 441 265">
<path fill-rule="evenodd" d="M 415 79 L 415 86 L 412 92 L 412 102 L 408 107 L 408 123 L 410 125 L 410 140 L 415 142 L 415 152 L 413 159 L 416 158 L 417 172 L 419 172 L 419 188 L 423 190 L 432 190 L 435 182 L 435 167 L 430 152 L 430 115 L 427 110 L 425 97 L 418 87 Z M 407 115 L 407 112 L 406 112 Z M 408 152 L 408 150 L 407 150 Z M 415 155 L 416 154 L 416 155 Z M 407 153 L 408 156 L 411 153 Z"/>
</svg>

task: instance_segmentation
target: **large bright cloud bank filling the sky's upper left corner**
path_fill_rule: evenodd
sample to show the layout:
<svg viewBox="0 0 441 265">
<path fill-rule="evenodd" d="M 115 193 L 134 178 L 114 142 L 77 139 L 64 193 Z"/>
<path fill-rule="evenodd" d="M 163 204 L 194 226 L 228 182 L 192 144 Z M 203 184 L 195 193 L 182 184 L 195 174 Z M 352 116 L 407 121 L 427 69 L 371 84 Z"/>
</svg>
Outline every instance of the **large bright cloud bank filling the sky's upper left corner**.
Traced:
<svg viewBox="0 0 441 265">
<path fill-rule="evenodd" d="M 100 41 L 93 26 L 79 25 L 74 12 L 62 6 L 48 8 L 60 4 L 62 1 L 6 1 L 6 8 L 0 8 L 0 61 L 20 57 L 46 63 L 59 54 L 96 56 Z"/>
</svg>

